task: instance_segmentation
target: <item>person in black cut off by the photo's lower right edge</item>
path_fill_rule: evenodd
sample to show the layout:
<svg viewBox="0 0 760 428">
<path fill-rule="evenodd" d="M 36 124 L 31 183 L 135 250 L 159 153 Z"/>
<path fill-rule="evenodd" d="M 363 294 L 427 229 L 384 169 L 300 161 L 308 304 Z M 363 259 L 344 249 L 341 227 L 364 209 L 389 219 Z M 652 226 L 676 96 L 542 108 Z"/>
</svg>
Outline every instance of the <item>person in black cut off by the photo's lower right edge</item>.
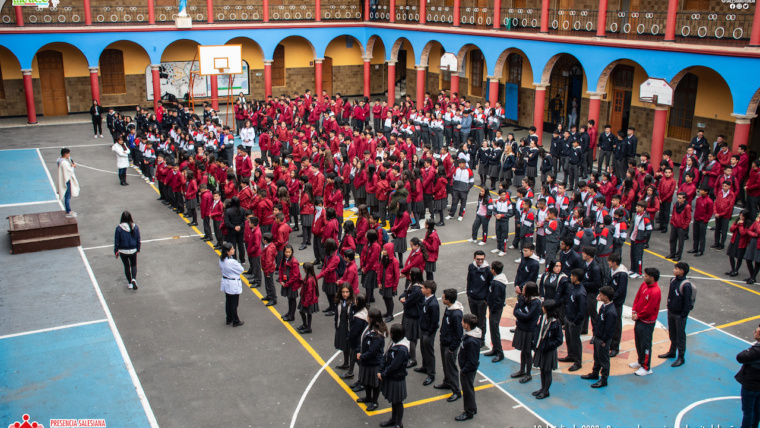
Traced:
<svg viewBox="0 0 760 428">
<path fill-rule="evenodd" d="M 755 343 L 736 356 L 742 364 L 734 376 L 742 384 L 742 428 L 756 427 L 760 422 L 760 326 L 755 328 L 754 336 Z"/>
</svg>

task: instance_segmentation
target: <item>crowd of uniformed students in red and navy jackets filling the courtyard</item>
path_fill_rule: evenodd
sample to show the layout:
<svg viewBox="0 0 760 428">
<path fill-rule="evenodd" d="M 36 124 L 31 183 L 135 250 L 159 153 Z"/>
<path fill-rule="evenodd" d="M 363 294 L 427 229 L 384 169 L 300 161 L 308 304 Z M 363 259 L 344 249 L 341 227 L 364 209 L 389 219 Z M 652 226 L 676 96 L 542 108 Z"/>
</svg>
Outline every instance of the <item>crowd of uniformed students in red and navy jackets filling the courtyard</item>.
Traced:
<svg viewBox="0 0 760 428">
<path fill-rule="evenodd" d="M 482 270 L 486 275 L 480 278 L 491 279 L 477 280 L 478 275 L 473 275 L 471 280 L 468 274 L 471 314 L 462 314 L 456 291 L 447 289 L 443 292 L 444 322 L 439 324 L 438 319 L 434 275 L 441 243 L 436 227 L 445 226 L 445 220 L 463 220 L 475 184 L 473 170 L 481 189 L 470 242 L 487 245 L 494 217 L 496 240 L 491 253 L 496 257 L 504 257 L 509 249 L 520 253 L 515 260 L 519 300 L 513 344 L 521 350 L 522 364 L 513 377 L 525 383 L 531 380 L 534 365 L 541 368 L 542 388 L 534 394 L 539 399 L 549 395 L 563 328 L 569 354 L 559 361 L 573 362 L 570 370 L 575 371 L 581 367 L 580 335 L 588 333 L 591 323 L 595 366 L 588 378 L 601 376 L 594 385 L 606 385 L 609 357 L 619 352 L 628 278 L 643 277 L 643 290 L 656 285 L 659 278 L 659 272 L 645 269 L 643 262 L 655 222 L 663 233 L 672 226 L 670 258 L 679 261 L 692 219 L 694 246 L 689 253 L 701 256 L 707 222 L 714 215 L 712 248 L 721 251 L 734 202 L 742 195 L 747 210 L 730 227 L 730 275 L 738 274 L 742 260 L 747 260 L 750 270 L 748 283 L 755 281 L 760 270 L 760 222 L 753 221 L 760 201 L 760 161 L 750 170 L 746 147 L 727 155 L 725 142 L 719 141 L 711 151 L 698 137 L 676 170 L 670 151 L 665 151 L 657 166 L 649 163 L 647 153 L 634 160 L 638 142 L 633 128 L 613 133 L 606 126 L 597 133 L 595 123 L 589 121 L 579 130 L 559 126 L 546 150 L 539 146 L 535 128 L 520 141 L 511 133 L 504 139 L 500 109 L 498 104 L 493 108 L 488 103 L 472 105 L 457 94 L 445 93 L 435 101 L 426 94 L 424 105 L 417 109 L 409 97 L 388 106 L 379 100 L 370 105 L 366 98 L 348 102 L 324 93 L 315 98 L 308 91 L 253 103 L 241 96 L 235 105 L 242 141 L 237 146 L 230 128 L 220 124 L 209 106 L 204 106 L 202 120 L 181 105 L 171 111 L 159 106 L 155 115 L 138 109 L 134 122 L 122 121 L 111 110 L 107 124 L 114 136 L 114 151 L 121 158 L 131 157 L 142 174 L 157 183 L 165 205 L 184 213 L 191 226 L 199 224 L 200 209 L 202 239 L 216 239 L 222 263 L 235 260 L 240 265 L 235 265 L 232 274 L 243 272 L 242 264 L 248 260 L 243 273 L 249 275 L 252 287 L 259 287 L 263 278 L 266 295 L 262 300 L 268 306 L 278 300 L 277 275 L 280 297 L 288 300 L 282 318 L 294 321 L 299 312 L 302 334 L 312 331 L 321 289 L 327 297 L 322 312 L 334 317 L 335 346 L 344 352 L 340 366 L 347 370 L 344 377 L 354 377 L 358 362 L 359 380 L 354 388 L 367 391 L 363 402 L 372 409 L 382 390 L 394 406 L 389 425 L 384 426 L 394 426 L 401 425 L 403 406 L 398 403 L 406 396 L 402 381 L 406 368 L 417 365 L 417 340 L 422 366 L 415 371 L 427 374 L 425 385 L 435 378 L 432 348 L 439 326 L 445 374 L 436 388 L 452 389 L 450 401 L 455 401 L 462 390 L 461 379 L 465 412 L 460 418 L 469 419 L 476 412 L 469 376 L 477 370 L 479 351 L 473 352 L 468 343 L 477 339 L 477 350 L 484 346 L 486 308 L 491 314 L 493 343 L 487 355 L 494 356 L 494 362 L 503 359 L 498 337 L 506 299 L 499 290 L 508 283 L 503 263 L 484 263 L 485 252 L 477 251 L 471 270 Z M 251 159 L 256 142 L 261 155 Z M 595 150 L 599 152 L 596 171 Z M 558 180 L 560 172 L 563 181 Z M 120 180 L 124 184 L 126 174 L 120 174 Z M 355 221 L 343 218 L 351 200 Z M 423 223 L 424 237 L 407 241 L 408 231 L 421 229 Z M 510 223 L 514 226 L 511 242 Z M 303 263 L 303 269 L 295 258 L 292 232 L 301 232 L 297 235 L 300 251 L 313 248 L 313 262 Z M 622 265 L 627 241 L 630 271 Z M 688 265 L 683 275 L 686 272 Z M 398 297 L 404 316 L 389 333 L 386 323 L 394 320 L 402 277 L 405 281 Z M 376 290 L 384 312 L 375 304 Z M 597 300 L 602 302 L 600 311 Z M 429 301 L 434 303 L 429 305 Z M 652 315 L 650 306 L 637 311 L 637 326 L 654 325 L 657 311 Z M 242 325 L 236 303 L 228 305 L 227 321 Z M 651 331 L 647 331 L 637 327 L 642 349 L 637 366 L 632 367 L 641 375 L 651 373 Z M 393 345 L 383 358 L 382 344 L 389 334 Z M 457 353 L 461 373 L 452 356 Z"/>
</svg>

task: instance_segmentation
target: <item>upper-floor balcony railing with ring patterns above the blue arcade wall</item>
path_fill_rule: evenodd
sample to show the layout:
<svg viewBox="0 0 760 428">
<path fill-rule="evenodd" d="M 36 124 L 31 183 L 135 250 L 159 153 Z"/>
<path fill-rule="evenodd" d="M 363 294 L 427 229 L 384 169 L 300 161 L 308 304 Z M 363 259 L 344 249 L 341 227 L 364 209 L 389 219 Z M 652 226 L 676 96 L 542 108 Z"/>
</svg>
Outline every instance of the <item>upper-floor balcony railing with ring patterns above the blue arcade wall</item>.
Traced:
<svg viewBox="0 0 760 428">
<path fill-rule="evenodd" d="M 327 3 L 329 1 L 330 4 Z M 327 0 L 321 6 L 323 21 L 361 21 L 364 11 L 359 2 Z M 369 0 L 367 0 L 369 1 Z M 23 7 L 24 25 L 40 26 L 81 26 L 85 23 L 82 5 L 67 5 L 62 0 L 57 7 L 38 9 Z M 315 4 L 289 4 L 290 0 L 270 0 L 270 21 L 316 20 Z M 397 5 L 391 10 L 389 0 L 379 0 L 370 7 L 370 22 L 389 22 L 391 15 L 399 24 L 418 24 L 419 5 Z M 0 26 L 16 25 L 13 7 L 3 8 Z M 147 24 L 146 6 L 93 6 L 92 24 L 140 25 Z M 176 6 L 156 6 L 155 21 L 158 24 L 171 23 L 177 16 Z M 188 7 L 188 15 L 196 23 L 208 20 L 208 11 L 202 5 Z M 263 21 L 262 5 L 214 5 L 213 18 L 216 23 L 240 23 Z M 486 29 L 493 26 L 493 9 L 463 6 L 459 9 L 462 27 Z M 429 25 L 453 26 L 454 8 L 429 5 L 425 11 Z M 725 46 L 746 46 L 752 32 L 753 13 L 712 13 L 679 12 L 676 16 L 675 41 L 678 43 L 714 44 Z M 503 8 L 499 17 L 499 27 L 505 31 L 535 33 L 541 28 L 541 10 L 529 8 Z M 760 25 L 760 23 L 758 24 Z M 548 30 L 550 34 L 568 37 L 593 37 L 598 31 L 598 12 L 595 10 L 550 9 Z M 608 38 L 630 40 L 662 41 L 665 38 L 667 13 L 608 11 L 604 33 Z"/>
</svg>

